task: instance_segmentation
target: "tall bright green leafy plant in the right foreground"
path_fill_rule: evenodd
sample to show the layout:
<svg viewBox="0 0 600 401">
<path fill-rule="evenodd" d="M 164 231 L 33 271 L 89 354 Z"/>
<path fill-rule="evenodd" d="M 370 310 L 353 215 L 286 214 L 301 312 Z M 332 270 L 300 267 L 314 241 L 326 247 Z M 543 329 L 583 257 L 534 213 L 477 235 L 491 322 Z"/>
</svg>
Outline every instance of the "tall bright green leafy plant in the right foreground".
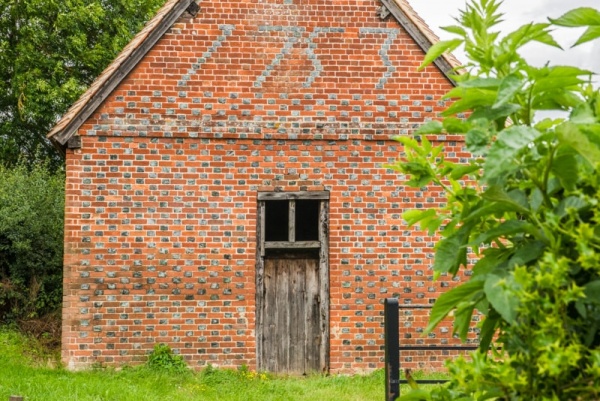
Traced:
<svg viewBox="0 0 600 401">
<path fill-rule="evenodd" d="M 579 8 L 502 37 L 500 5 L 474 0 L 459 25 L 443 28 L 458 38 L 433 46 L 423 66 L 459 46 L 470 63 L 446 94 L 453 103 L 441 121 L 423 125 L 420 138 L 397 138 L 404 155 L 391 167 L 409 185 L 442 187 L 448 199 L 403 216 L 441 228 L 436 275 L 472 269 L 437 300 L 428 329 L 452 312 L 464 339 L 473 313 L 484 315 L 481 352 L 449 364 L 451 384 L 403 399 L 599 399 L 600 91 L 590 71 L 534 67 L 520 51 L 532 41 L 560 47 L 558 26 L 587 28 L 576 45 L 598 38 L 600 12 Z M 568 116 L 538 118 L 547 110 Z M 440 133 L 464 133 L 473 159 L 446 160 L 426 137 Z"/>
</svg>

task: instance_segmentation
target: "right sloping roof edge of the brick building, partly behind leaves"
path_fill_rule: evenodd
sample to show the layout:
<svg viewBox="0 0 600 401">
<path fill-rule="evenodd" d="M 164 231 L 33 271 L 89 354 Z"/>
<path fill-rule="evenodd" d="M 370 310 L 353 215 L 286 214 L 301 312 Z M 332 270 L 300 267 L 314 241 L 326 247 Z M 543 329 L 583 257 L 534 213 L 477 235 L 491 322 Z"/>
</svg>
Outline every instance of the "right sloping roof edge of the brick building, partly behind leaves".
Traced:
<svg viewBox="0 0 600 401">
<path fill-rule="evenodd" d="M 416 11 L 406 0 L 380 0 L 380 2 L 387 8 L 400 25 L 406 29 L 408 34 L 425 53 L 427 53 L 431 46 L 440 40 L 437 35 L 435 35 L 435 33 L 420 20 Z M 460 61 L 451 54 L 443 54 L 441 57 L 435 59 L 433 63 L 439 68 L 450 83 L 456 86 L 456 81 L 454 81 L 452 75 L 461 67 Z"/>
</svg>

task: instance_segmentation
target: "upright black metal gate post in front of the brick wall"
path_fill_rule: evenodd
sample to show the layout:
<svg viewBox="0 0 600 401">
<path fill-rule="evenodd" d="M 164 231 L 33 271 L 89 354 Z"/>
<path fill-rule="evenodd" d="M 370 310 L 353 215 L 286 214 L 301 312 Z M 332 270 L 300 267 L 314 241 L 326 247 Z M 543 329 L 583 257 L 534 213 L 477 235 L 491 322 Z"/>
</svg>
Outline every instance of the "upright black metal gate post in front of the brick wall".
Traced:
<svg viewBox="0 0 600 401">
<path fill-rule="evenodd" d="M 386 298 L 383 309 L 385 336 L 385 400 L 400 397 L 400 335 L 398 300 Z"/>
</svg>

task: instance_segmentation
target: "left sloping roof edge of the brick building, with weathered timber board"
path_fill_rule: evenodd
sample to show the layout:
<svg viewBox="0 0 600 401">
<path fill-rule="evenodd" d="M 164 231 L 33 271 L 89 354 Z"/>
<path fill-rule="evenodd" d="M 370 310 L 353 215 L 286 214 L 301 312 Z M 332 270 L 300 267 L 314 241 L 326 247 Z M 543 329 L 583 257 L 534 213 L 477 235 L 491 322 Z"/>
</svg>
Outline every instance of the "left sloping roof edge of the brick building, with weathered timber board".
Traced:
<svg viewBox="0 0 600 401">
<path fill-rule="evenodd" d="M 47 138 L 54 146 L 64 152 L 69 139 L 188 9 L 195 15 L 195 0 L 172 0 L 156 13 L 50 130 Z"/>
</svg>

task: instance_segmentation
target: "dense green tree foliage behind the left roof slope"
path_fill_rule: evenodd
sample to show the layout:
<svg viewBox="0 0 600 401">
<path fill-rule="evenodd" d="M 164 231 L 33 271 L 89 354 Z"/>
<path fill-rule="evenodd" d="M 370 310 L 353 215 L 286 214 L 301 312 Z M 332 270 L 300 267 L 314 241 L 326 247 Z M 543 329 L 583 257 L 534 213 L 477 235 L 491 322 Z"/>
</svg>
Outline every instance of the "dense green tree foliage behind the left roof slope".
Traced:
<svg viewBox="0 0 600 401">
<path fill-rule="evenodd" d="M 0 0 L 0 160 L 60 156 L 45 136 L 164 0 Z"/>
</svg>

